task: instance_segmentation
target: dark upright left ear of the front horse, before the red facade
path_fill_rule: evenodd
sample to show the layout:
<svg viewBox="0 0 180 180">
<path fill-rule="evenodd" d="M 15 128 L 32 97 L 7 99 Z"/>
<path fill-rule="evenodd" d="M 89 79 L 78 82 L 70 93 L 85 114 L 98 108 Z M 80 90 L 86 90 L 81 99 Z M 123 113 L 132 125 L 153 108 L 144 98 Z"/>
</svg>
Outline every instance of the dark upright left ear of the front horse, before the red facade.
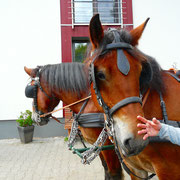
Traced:
<svg viewBox="0 0 180 180">
<path fill-rule="evenodd" d="M 90 21 L 89 34 L 93 48 L 98 48 L 104 37 L 104 30 L 99 19 L 99 14 L 94 15 Z"/>
</svg>

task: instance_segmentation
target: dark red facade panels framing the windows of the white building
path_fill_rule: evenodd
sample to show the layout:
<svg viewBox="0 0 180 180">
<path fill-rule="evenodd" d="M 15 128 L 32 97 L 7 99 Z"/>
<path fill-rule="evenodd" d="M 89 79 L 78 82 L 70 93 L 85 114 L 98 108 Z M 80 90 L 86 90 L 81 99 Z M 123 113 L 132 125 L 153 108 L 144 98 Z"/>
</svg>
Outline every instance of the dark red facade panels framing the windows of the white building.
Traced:
<svg viewBox="0 0 180 180">
<path fill-rule="evenodd" d="M 133 25 L 126 26 L 125 24 L 133 24 L 132 0 L 122 0 L 123 2 L 123 24 L 124 28 L 131 30 Z M 62 62 L 72 62 L 72 37 L 89 37 L 88 26 L 74 26 L 72 29 L 71 23 L 71 4 L 70 0 L 60 0 L 60 13 L 61 13 L 61 51 Z M 63 26 L 66 25 L 66 26 Z M 118 26 L 105 26 L 108 27 Z M 67 116 L 68 116 L 67 112 Z M 66 115 L 65 115 L 66 116 Z"/>
</svg>

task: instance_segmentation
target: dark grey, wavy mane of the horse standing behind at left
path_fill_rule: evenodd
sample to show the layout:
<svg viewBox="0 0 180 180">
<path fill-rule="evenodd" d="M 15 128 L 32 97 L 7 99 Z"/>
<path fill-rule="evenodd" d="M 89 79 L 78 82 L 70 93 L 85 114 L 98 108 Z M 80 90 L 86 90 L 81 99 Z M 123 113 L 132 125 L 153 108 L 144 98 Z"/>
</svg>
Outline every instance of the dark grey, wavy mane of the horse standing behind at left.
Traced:
<svg viewBox="0 0 180 180">
<path fill-rule="evenodd" d="M 61 63 L 42 67 L 41 80 L 51 90 L 63 90 L 80 95 L 89 91 L 89 83 L 82 63 Z"/>
</svg>

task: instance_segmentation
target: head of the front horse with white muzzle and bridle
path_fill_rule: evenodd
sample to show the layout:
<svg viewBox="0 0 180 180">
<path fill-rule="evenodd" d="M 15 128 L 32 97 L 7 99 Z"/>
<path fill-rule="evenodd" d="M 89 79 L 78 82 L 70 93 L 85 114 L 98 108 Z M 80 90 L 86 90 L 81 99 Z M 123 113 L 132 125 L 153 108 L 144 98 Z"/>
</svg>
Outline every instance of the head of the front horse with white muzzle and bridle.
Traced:
<svg viewBox="0 0 180 180">
<path fill-rule="evenodd" d="M 140 90 L 151 80 L 152 73 L 136 48 L 147 21 L 130 32 L 104 31 L 99 15 L 95 15 L 89 26 L 92 97 L 107 114 L 108 126 L 113 126 L 117 144 L 127 156 L 138 154 L 148 144 L 137 133 L 137 115 L 143 115 Z"/>
</svg>

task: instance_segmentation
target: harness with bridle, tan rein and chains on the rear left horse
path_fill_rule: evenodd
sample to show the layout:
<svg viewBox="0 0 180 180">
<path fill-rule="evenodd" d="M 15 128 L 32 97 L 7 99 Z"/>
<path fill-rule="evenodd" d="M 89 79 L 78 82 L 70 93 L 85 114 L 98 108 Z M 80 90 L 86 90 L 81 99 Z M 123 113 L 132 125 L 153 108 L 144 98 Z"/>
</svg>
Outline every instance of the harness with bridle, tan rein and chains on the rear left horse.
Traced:
<svg viewBox="0 0 180 180">
<path fill-rule="evenodd" d="M 90 95 L 86 98 L 83 98 L 77 102 L 74 102 L 70 105 L 67 105 L 66 107 L 54 110 L 52 112 L 49 113 L 43 113 L 41 111 L 38 110 L 38 105 L 37 105 L 37 90 L 38 87 L 40 88 L 40 90 L 51 100 L 56 99 L 56 97 L 50 97 L 42 88 L 41 84 L 40 84 L 40 73 L 42 72 L 42 67 L 38 67 L 37 68 L 37 73 L 35 78 L 31 78 L 31 80 L 34 81 L 34 84 L 28 84 L 25 88 L 25 95 L 28 98 L 33 98 L 34 99 L 34 103 L 33 103 L 33 107 L 35 109 L 35 120 L 37 124 L 40 124 L 42 122 L 42 120 L 46 120 L 48 121 L 48 117 L 52 117 L 53 119 L 57 120 L 57 118 L 53 117 L 51 114 L 53 112 L 57 112 L 59 110 L 62 110 L 64 108 L 70 107 L 74 104 L 77 104 L 79 102 L 84 101 L 80 111 L 78 114 L 74 114 L 74 121 L 72 123 L 72 127 L 71 127 L 71 133 L 69 136 L 69 141 L 68 141 L 68 146 L 70 150 L 73 150 L 73 152 L 75 152 L 77 155 L 79 155 L 82 158 L 82 162 L 83 164 L 90 164 L 90 162 L 95 159 L 99 153 L 101 152 L 101 150 L 107 150 L 107 149 L 114 149 L 114 145 L 108 145 L 108 146 L 103 146 L 106 139 L 107 139 L 107 133 L 106 130 L 104 129 L 104 131 L 100 134 L 100 136 L 98 137 L 97 141 L 94 143 L 94 145 L 91 148 L 83 148 L 83 149 L 76 149 L 74 148 L 74 144 L 76 141 L 76 137 L 77 135 L 79 135 L 79 129 L 78 126 L 82 126 L 82 127 L 104 127 L 104 114 L 102 113 L 88 113 L 88 114 L 82 114 L 82 111 L 84 110 L 84 108 L 86 107 L 89 98 L 91 97 Z M 87 121 L 86 121 L 87 120 Z M 103 143 L 102 143 L 102 139 L 103 139 Z M 84 144 L 83 140 L 82 143 Z M 84 145 L 85 146 L 85 145 Z M 99 148 L 98 148 L 99 146 Z M 103 147 L 102 147 L 103 146 Z"/>
</svg>

